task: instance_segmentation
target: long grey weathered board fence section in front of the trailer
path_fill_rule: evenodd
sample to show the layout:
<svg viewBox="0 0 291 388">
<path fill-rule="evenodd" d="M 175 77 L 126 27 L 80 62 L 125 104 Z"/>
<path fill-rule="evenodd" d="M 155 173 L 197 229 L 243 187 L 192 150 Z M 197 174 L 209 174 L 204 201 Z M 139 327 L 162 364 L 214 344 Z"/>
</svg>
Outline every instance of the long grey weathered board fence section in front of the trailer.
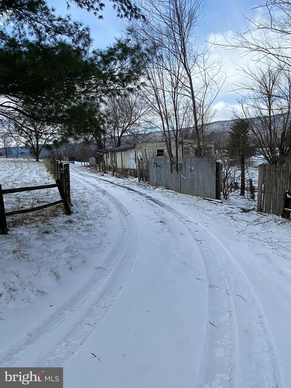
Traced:
<svg viewBox="0 0 291 388">
<path fill-rule="evenodd" d="M 171 173 L 166 158 L 150 158 L 148 182 L 192 196 L 220 199 L 220 164 L 214 157 L 188 157 Z"/>
</svg>

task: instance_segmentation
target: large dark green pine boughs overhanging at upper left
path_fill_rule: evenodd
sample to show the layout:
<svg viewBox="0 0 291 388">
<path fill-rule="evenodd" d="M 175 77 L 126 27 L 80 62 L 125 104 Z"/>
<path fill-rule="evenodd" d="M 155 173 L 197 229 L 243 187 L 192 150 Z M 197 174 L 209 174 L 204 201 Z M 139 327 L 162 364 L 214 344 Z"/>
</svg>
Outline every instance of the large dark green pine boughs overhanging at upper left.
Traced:
<svg viewBox="0 0 291 388">
<path fill-rule="evenodd" d="M 65 1 L 65 0 L 64 0 Z M 69 0 L 101 17 L 99 0 Z M 130 0 L 113 0 L 117 16 L 141 17 Z M 136 87 L 143 56 L 136 45 L 117 40 L 92 51 L 88 27 L 57 16 L 44 0 L 0 1 L 0 119 L 72 126 L 94 96 Z M 86 108 L 88 110 L 88 108 Z"/>
</svg>

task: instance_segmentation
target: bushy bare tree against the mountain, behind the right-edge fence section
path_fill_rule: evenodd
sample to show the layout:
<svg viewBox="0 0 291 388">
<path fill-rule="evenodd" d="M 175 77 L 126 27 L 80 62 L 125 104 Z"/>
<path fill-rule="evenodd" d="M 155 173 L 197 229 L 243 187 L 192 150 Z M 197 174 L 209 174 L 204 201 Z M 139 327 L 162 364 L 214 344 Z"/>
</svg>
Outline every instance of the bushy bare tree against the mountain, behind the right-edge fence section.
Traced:
<svg viewBox="0 0 291 388">
<path fill-rule="evenodd" d="M 251 137 L 268 163 L 284 163 L 291 157 L 291 72 L 270 62 L 244 72 L 240 104 Z"/>
</svg>

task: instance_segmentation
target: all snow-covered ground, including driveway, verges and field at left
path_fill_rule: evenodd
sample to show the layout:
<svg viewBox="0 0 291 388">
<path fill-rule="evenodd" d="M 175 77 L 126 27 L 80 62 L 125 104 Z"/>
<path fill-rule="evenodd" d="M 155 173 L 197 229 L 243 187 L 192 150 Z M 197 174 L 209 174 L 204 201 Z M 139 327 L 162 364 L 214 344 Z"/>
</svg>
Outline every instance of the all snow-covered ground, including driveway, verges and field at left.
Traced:
<svg viewBox="0 0 291 388">
<path fill-rule="evenodd" d="M 291 223 L 70 167 L 72 216 L 0 236 L 1 366 L 63 366 L 65 388 L 288 388 Z M 51 180 L 0 160 L 4 188 L 32 179 Z"/>
</svg>

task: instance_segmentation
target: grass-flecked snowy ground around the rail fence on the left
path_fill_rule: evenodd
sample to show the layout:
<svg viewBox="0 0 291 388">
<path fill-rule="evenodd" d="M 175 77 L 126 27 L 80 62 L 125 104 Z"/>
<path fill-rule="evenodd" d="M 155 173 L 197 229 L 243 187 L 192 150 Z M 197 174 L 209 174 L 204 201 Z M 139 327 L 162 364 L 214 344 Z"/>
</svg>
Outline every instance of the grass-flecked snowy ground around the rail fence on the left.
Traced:
<svg viewBox="0 0 291 388">
<path fill-rule="evenodd" d="M 43 163 L 0 159 L 3 188 L 54 182 Z M 57 188 L 4 196 L 7 211 L 58 200 Z M 87 261 L 88 255 L 84 252 L 89 251 L 94 241 L 90 237 L 88 243 L 86 237 L 90 214 L 84 210 L 88 209 L 88 203 L 82 189 L 74 193 L 74 200 L 78 201 L 78 209 L 72 216 L 66 216 L 63 206 L 59 205 L 7 218 L 9 234 L 0 235 L 0 324 L 17 305 L 38 303 L 39 298 L 47 298 L 58 288 L 61 292 L 61 287 L 68 284 L 68 278 L 74 277 L 75 270 Z M 102 217 L 91 230 L 96 241 L 101 237 L 101 224 Z"/>
</svg>

